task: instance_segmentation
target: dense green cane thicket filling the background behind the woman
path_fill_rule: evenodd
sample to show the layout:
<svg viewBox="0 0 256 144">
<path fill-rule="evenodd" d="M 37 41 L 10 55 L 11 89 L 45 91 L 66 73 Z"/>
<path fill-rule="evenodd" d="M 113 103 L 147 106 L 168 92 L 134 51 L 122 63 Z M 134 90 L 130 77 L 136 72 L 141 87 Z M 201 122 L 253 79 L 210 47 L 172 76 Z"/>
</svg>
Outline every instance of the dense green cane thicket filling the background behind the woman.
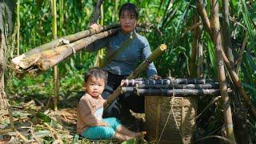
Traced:
<svg viewBox="0 0 256 144">
<path fill-rule="evenodd" d="M 5 17 L 0 18 L 8 18 L 8 14 L 3 9 L 5 1 L 0 2 L 2 6 L 0 14 L 6 14 Z M 71 36 L 68 38 L 65 36 L 86 31 L 91 22 L 95 2 L 98 1 L 14 1 L 16 3 L 12 6 L 15 11 L 13 13 L 15 21 L 12 22 L 14 30 L 8 29 L 8 26 L 9 28 L 12 26 L 7 20 L 2 21 L 0 25 L 2 34 L 0 94 L 7 96 L 18 94 L 24 97 L 40 95 L 49 98 L 55 93 L 57 98 L 56 95 L 63 96 L 71 94 L 70 91 L 81 90 L 82 74 L 89 67 L 100 65 L 98 62 L 104 57 L 103 51 L 90 54 L 81 50 L 65 61 L 57 62 L 58 69 L 54 68 L 55 76 L 54 70 L 48 70 L 49 66 L 46 66 L 47 71 L 39 74 L 38 78 L 25 75 L 21 80 L 14 76 L 14 70 L 10 65 L 12 58 L 27 54 L 26 52 L 35 47 L 45 46 L 55 38 L 71 38 L 70 42 L 72 42 Z M 98 22 L 105 26 L 117 23 L 118 7 L 124 2 L 128 1 L 103 1 Z M 249 135 L 254 134 L 256 129 L 255 0 L 130 0 L 129 2 L 134 2 L 139 7 L 139 22 L 154 26 L 154 29 L 142 32 L 148 38 L 152 51 L 162 43 L 166 43 L 168 47 L 166 52 L 154 61 L 162 78 L 206 78 L 219 82 L 222 98 L 215 99 L 214 102 L 218 102 L 218 111 L 222 114 L 216 114 L 215 117 L 218 119 L 216 126 L 208 128 L 214 131 L 218 129 L 220 123 L 225 123 L 226 138 L 237 142 L 241 142 L 243 136 L 235 129 L 242 127 L 243 124 L 252 128 L 246 130 L 247 127 L 243 127 L 240 130 Z M 58 40 L 55 41 L 60 44 Z M 56 62 L 52 66 L 55 64 Z M 141 77 L 143 76 L 144 74 L 141 74 Z M 54 77 L 55 83 L 59 83 L 60 86 L 52 91 Z M 56 82 L 58 79 L 59 82 Z M 227 89 L 228 86 L 232 88 L 232 92 Z M 199 98 L 198 114 L 210 101 L 211 98 Z M 244 116 L 241 116 L 240 113 L 244 109 L 248 110 Z M 250 140 L 250 136 L 246 136 L 245 139 Z"/>
</svg>

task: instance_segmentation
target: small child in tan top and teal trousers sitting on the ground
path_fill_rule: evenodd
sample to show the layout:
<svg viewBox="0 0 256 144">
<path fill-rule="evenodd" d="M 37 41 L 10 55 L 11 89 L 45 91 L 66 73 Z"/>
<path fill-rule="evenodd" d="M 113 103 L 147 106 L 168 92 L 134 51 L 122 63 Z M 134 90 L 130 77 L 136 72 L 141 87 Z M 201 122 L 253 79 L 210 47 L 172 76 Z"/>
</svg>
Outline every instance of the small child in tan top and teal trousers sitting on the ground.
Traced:
<svg viewBox="0 0 256 144">
<path fill-rule="evenodd" d="M 146 132 L 134 133 L 122 126 L 116 118 L 102 118 L 102 92 L 106 86 L 107 73 L 100 68 L 91 68 L 85 75 L 86 94 L 78 103 L 77 132 L 88 139 L 112 139 L 126 141 L 142 137 Z"/>
</svg>

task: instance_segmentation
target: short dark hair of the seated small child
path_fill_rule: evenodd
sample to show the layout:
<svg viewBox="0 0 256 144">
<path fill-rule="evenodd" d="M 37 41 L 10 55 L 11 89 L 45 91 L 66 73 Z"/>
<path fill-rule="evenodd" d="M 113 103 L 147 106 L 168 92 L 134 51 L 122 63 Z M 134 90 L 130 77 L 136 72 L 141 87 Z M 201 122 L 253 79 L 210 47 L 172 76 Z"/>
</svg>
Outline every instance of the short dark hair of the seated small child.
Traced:
<svg viewBox="0 0 256 144">
<path fill-rule="evenodd" d="M 102 70 L 102 68 L 92 67 L 89 70 L 87 70 L 86 74 L 85 74 L 85 82 L 88 81 L 90 76 L 92 76 L 94 78 L 103 78 L 104 82 L 105 82 L 105 85 L 106 85 L 108 74 L 105 70 Z"/>
</svg>

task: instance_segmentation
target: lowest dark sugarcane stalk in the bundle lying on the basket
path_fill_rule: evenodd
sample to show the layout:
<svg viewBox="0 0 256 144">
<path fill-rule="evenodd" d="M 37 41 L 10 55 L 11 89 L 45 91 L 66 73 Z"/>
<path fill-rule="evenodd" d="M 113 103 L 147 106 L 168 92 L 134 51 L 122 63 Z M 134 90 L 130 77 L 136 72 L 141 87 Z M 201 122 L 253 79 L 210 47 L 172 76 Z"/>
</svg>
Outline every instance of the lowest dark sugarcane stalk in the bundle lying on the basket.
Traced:
<svg viewBox="0 0 256 144">
<path fill-rule="evenodd" d="M 232 90 L 229 90 L 232 92 Z M 141 89 L 133 86 L 124 86 L 122 87 L 121 94 L 138 94 L 142 96 L 163 96 L 163 97 L 190 97 L 198 95 L 219 95 L 219 89 Z"/>
</svg>

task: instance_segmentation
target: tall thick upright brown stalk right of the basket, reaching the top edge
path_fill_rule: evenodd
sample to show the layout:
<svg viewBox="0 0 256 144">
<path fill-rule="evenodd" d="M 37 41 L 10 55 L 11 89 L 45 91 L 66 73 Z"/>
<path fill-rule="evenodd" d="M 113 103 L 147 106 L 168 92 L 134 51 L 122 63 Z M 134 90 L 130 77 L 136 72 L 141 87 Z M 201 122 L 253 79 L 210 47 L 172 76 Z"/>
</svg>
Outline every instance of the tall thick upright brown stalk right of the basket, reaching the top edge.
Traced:
<svg viewBox="0 0 256 144">
<path fill-rule="evenodd" d="M 221 37 L 221 30 L 220 30 L 220 23 L 219 23 L 219 16 L 218 16 L 218 0 L 212 0 L 212 25 L 213 25 L 213 36 L 214 36 L 214 46 L 215 46 L 215 53 L 216 53 L 216 61 L 218 66 L 218 81 L 220 82 L 220 93 L 222 96 L 222 107 L 223 107 L 223 115 L 224 115 L 224 122 L 226 128 L 226 136 L 231 141 L 235 142 L 234 138 L 234 130 L 233 130 L 233 121 L 232 121 L 232 113 L 230 108 L 230 98 L 227 93 L 227 86 L 226 86 L 226 75 L 224 69 L 224 62 L 222 58 L 222 37 Z"/>
</svg>

